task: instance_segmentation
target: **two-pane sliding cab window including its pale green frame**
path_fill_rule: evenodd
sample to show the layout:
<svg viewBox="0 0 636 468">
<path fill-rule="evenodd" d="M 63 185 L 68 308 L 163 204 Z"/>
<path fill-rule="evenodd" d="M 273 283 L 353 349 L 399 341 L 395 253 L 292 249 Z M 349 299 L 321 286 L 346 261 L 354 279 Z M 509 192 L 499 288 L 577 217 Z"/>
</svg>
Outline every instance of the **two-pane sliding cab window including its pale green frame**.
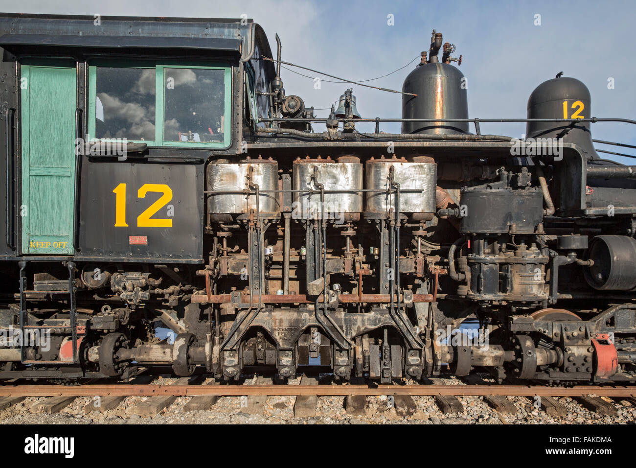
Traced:
<svg viewBox="0 0 636 468">
<path fill-rule="evenodd" d="M 230 145 L 229 67 L 111 61 L 88 68 L 90 138 Z"/>
</svg>

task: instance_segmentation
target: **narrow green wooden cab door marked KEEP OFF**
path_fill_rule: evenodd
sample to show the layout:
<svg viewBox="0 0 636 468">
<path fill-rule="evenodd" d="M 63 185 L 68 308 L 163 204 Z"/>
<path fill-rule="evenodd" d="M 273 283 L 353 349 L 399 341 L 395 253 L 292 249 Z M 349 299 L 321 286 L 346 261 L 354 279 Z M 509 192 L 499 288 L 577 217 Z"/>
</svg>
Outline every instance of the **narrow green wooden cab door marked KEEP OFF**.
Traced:
<svg viewBox="0 0 636 468">
<path fill-rule="evenodd" d="M 22 253 L 72 254 L 76 68 L 22 64 Z"/>
</svg>

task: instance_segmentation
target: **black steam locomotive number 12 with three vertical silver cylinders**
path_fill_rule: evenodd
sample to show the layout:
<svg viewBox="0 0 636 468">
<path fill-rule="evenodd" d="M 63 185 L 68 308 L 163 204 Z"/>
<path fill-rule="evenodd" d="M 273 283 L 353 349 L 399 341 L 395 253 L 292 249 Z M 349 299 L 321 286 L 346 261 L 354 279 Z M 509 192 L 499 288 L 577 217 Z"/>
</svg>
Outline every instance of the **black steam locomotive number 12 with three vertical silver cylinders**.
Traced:
<svg viewBox="0 0 636 468">
<path fill-rule="evenodd" d="M 328 118 L 287 95 L 252 20 L 0 31 L 0 379 L 636 378 L 634 167 L 590 133 L 636 122 L 578 80 L 482 134 L 433 31 L 391 134 L 352 89 Z"/>
</svg>

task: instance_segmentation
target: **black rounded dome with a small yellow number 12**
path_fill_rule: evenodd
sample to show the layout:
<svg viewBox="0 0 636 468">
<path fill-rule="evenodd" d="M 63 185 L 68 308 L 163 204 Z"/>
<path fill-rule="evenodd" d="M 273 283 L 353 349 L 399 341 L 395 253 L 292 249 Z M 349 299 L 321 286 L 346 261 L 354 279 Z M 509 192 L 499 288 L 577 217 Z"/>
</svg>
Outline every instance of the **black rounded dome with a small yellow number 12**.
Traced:
<svg viewBox="0 0 636 468">
<path fill-rule="evenodd" d="M 528 99 L 528 118 L 590 118 L 590 90 L 576 78 L 553 78 L 536 87 Z M 590 122 L 528 122 L 527 138 L 563 138 L 591 159 L 599 159 L 592 145 Z"/>
</svg>

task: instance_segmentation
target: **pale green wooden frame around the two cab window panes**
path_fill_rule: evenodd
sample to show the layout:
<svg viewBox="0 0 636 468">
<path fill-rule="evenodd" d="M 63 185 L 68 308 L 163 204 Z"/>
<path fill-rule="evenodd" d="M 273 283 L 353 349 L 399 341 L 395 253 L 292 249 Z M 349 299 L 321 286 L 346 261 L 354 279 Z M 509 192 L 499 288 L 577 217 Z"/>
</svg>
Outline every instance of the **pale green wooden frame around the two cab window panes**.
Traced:
<svg viewBox="0 0 636 468">
<path fill-rule="evenodd" d="M 130 143 L 146 143 L 148 146 L 177 146 L 182 148 L 229 148 L 232 143 L 232 67 L 230 64 L 181 60 L 130 60 L 130 59 L 97 59 L 90 60 L 88 66 L 88 136 L 95 138 L 95 106 L 97 99 L 97 67 L 139 68 L 155 70 L 155 139 L 153 141 L 129 139 Z M 223 70 L 225 102 L 223 103 L 223 141 L 164 141 L 163 125 L 165 124 L 165 69 L 184 68 L 202 70 Z M 104 141 L 113 139 L 102 138 Z"/>
</svg>

